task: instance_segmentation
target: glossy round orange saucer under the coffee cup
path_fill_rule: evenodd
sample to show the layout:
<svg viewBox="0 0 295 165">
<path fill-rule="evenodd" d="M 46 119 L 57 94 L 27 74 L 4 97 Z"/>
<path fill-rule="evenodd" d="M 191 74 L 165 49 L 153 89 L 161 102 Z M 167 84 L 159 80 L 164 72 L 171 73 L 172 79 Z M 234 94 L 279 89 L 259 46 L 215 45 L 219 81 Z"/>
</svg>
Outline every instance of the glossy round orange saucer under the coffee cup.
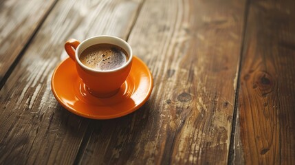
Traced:
<svg viewBox="0 0 295 165">
<path fill-rule="evenodd" d="M 52 75 L 52 92 L 65 109 L 92 119 L 119 118 L 139 109 L 149 99 L 153 78 L 149 68 L 133 56 L 129 77 L 115 96 L 96 98 L 89 94 L 78 77 L 71 58 L 56 67 Z"/>
</svg>

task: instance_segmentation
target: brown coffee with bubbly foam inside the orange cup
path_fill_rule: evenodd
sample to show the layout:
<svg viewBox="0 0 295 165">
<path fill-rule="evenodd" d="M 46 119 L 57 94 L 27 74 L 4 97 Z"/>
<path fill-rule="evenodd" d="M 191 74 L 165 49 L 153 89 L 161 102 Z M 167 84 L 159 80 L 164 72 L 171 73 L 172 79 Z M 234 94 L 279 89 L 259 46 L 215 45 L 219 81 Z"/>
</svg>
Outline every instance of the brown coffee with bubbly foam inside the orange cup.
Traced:
<svg viewBox="0 0 295 165">
<path fill-rule="evenodd" d="M 109 43 L 87 47 L 80 54 L 81 63 L 96 70 L 111 70 L 127 63 L 129 56 L 125 50 Z"/>
</svg>

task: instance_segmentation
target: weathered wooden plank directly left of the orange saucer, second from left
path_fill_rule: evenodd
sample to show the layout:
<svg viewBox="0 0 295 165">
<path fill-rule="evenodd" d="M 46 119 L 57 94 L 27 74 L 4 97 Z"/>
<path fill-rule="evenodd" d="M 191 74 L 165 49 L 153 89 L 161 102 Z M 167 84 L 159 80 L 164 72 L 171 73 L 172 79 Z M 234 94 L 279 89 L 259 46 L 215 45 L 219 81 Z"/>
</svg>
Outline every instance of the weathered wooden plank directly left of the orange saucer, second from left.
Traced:
<svg viewBox="0 0 295 165">
<path fill-rule="evenodd" d="M 140 1 L 58 1 L 0 91 L 0 164 L 73 164 L 89 120 L 54 98 L 63 44 L 99 34 L 126 39 Z"/>
</svg>

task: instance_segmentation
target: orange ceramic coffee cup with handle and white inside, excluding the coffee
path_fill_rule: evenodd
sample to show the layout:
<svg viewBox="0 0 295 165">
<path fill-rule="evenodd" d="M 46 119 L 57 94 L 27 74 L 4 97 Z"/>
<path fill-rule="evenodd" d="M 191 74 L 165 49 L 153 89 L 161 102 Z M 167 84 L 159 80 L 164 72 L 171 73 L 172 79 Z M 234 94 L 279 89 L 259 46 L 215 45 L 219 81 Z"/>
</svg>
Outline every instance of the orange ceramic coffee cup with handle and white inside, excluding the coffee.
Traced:
<svg viewBox="0 0 295 165">
<path fill-rule="evenodd" d="M 121 47 L 129 56 L 127 63 L 111 70 L 92 69 L 83 65 L 79 59 L 80 54 L 87 47 L 99 43 L 109 43 Z M 81 43 L 76 39 L 69 39 L 65 43 L 65 51 L 76 63 L 78 75 L 85 83 L 89 93 L 98 98 L 108 98 L 115 95 L 129 76 L 133 59 L 132 49 L 126 41 L 116 36 L 94 36 Z"/>
</svg>

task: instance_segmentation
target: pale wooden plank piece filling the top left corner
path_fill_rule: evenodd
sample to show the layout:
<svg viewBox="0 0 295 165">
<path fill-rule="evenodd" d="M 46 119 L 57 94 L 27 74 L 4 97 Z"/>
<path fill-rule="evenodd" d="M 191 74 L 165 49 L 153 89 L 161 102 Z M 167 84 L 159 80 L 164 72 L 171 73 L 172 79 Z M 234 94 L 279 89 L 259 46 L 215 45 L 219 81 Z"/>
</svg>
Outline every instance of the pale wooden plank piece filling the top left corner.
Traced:
<svg viewBox="0 0 295 165">
<path fill-rule="evenodd" d="M 0 82 L 55 1 L 0 1 Z"/>
</svg>

